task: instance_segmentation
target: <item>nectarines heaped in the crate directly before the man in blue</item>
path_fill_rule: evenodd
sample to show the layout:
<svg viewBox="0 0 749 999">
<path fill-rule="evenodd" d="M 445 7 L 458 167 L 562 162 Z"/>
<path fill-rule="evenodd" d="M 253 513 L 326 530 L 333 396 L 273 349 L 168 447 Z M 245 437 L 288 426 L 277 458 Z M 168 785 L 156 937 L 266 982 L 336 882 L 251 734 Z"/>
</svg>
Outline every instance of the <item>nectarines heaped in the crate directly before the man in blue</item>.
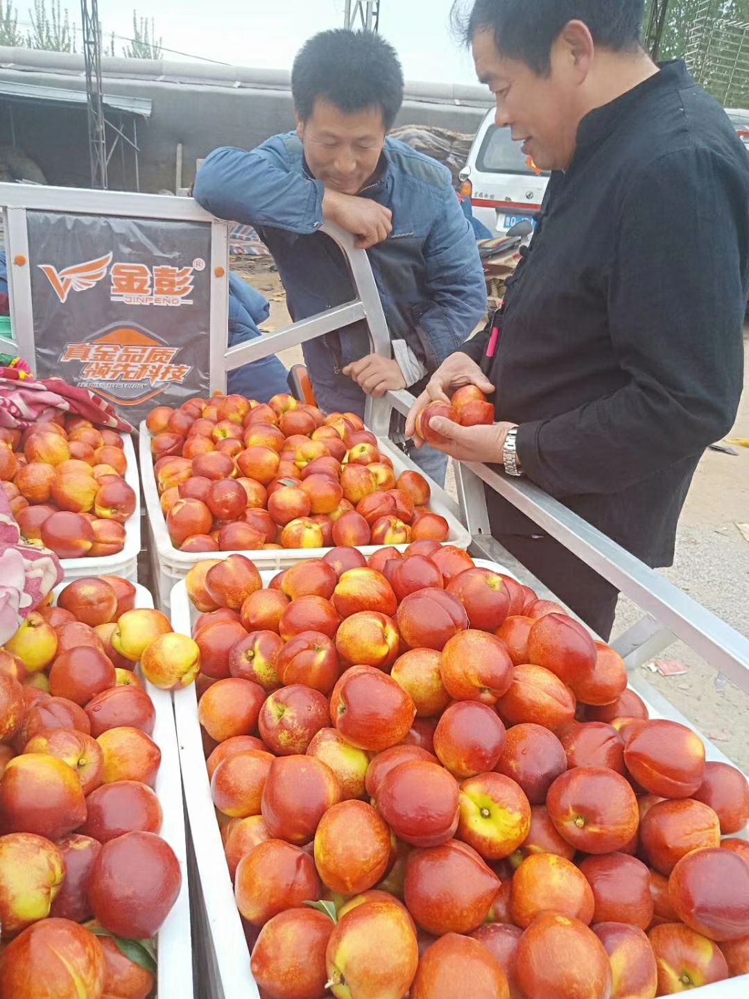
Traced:
<svg viewBox="0 0 749 999">
<path fill-rule="evenodd" d="M 161 507 L 181 551 L 446 540 L 416 472 L 397 479 L 356 414 L 292 396 L 160 406 L 146 421 Z"/>
</svg>

